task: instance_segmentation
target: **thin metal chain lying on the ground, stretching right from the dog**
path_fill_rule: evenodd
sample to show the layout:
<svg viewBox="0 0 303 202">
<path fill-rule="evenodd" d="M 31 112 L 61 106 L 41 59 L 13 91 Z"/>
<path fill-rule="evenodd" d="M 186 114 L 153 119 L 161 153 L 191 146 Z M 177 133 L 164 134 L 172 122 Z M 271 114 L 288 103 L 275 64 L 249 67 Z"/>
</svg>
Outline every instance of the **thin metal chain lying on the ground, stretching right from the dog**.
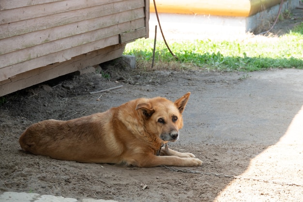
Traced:
<svg viewBox="0 0 303 202">
<path fill-rule="evenodd" d="M 195 174 L 209 175 L 209 176 L 215 176 L 215 177 L 228 177 L 228 178 L 240 179 L 240 180 L 253 180 L 253 181 L 271 183 L 271 184 L 278 184 L 278 185 L 303 186 L 301 184 L 288 183 L 288 182 L 279 182 L 279 181 L 273 181 L 273 180 L 264 180 L 264 179 L 258 179 L 258 178 L 252 178 L 252 177 L 241 177 L 241 176 L 237 176 L 237 175 L 227 175 L 227 174 L 220 174 L 220 173 L 214 173 L 214 172 L 193 171 L 193 170 L 190 170 L 190 169 L 182 170 L 182 169 L 177 169 L 177 168 L 168 167 L 168 166 L 161 166 L 161 167 L 167 168 L 170 171 L 174 171 L 174 172 L 195 173 Z"/>
</svg>

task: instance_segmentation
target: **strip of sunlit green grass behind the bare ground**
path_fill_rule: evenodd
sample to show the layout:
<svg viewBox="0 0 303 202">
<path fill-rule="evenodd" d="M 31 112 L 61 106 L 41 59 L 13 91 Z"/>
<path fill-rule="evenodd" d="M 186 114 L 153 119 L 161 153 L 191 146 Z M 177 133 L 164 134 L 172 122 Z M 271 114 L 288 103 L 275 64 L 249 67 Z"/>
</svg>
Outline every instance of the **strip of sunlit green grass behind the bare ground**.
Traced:
<svg viewBox="0 0 303 202">
<path fill-rule="evenodd" d="M 171 56 L 163 41 L 157 41 L 155 66 L 167 68 L 202 68 L 208 70 L 257 71 L 268 68 L 303 69 L 303 23 L 281 37 L 264 37 L 242 41 L 196 40 L 168 42 Z M 135 55 L 138 66 L 149 68 L 153 39 L 138 39 L 127 44 L 124 54 Z"/>
</svg>

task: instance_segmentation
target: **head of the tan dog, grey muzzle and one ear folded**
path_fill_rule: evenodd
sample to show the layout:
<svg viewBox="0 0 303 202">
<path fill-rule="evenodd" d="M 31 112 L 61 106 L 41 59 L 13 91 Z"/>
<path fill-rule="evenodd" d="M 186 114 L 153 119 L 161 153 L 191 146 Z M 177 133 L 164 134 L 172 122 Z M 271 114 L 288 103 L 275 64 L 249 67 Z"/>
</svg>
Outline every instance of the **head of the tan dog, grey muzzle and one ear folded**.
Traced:
<svg viewBox="0 0 303 202">
<path fill-rule="evenodd" d="M 144 118 L 146 132 L 159 135 L 164 143 L 178 140 L 179 130 L 183 126 L 182 112 L 189 95 L 186 93 L 175 102 L 156 97 L 139 103 L 136 110 Z"/>
</svg>

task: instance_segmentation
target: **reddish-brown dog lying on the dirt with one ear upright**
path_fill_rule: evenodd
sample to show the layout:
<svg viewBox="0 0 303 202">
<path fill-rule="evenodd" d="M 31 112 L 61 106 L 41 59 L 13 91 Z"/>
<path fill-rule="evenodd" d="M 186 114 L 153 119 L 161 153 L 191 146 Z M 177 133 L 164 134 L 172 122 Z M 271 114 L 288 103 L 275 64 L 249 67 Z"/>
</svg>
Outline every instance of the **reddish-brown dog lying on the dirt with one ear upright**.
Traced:
<svg viewBox="0 0 303 202">
<path fill-rule="evenodd" d="M 45 120 L 32 124 L 19 143 L 34 155 L 83 163 L 199 166 L 202 161 L 193 154 L 161 150 L 168 141 L 178 140 L 189 95 L 174 103 L 163 97 L 139 98 L 69 121 Z"/>
</svg>

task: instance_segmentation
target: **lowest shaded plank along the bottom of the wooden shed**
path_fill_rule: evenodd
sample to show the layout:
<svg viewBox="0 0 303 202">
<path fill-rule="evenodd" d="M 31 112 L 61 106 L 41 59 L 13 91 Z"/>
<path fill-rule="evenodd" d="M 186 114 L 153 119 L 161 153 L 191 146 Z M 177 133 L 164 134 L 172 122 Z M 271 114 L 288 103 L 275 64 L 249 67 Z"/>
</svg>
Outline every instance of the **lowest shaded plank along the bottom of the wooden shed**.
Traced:
<svg viewBox="0 0 303 202">
<path fill-rule="evenodd" d="M 0 96 L 30 87 L 46 80 L 80 71 L 87 66 L 121 57 L 125 44 L 114 45 L 88 54 L 79 55 L 69 61 L 47 65 L 15 76 L 12 79 L 0 81 Z"/>
</svg>

